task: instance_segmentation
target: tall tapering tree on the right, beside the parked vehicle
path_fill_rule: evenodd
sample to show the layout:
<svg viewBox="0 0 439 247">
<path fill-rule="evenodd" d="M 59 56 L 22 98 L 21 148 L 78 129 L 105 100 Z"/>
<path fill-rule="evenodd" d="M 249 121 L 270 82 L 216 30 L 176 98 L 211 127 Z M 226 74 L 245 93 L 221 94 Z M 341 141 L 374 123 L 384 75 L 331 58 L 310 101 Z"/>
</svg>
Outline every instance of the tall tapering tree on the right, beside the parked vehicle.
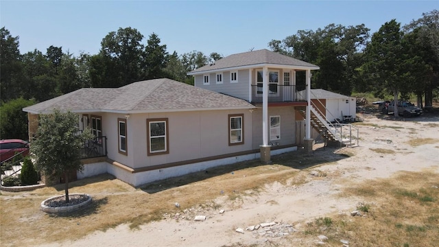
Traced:
<svg viewBox="0 0 439 247">
<path fill-rule="evenodd" d="M 407 84 L 407 56 L 403 50 L 403 32 L 395 19 L 384 23 L 366 47 L 365 72 L 375 82 L 377 91 L 388 91 L 394 95 L 395 106 L 401 89 Z M 394 115 L 398 117 L 398 108 Z"/>
</svg>

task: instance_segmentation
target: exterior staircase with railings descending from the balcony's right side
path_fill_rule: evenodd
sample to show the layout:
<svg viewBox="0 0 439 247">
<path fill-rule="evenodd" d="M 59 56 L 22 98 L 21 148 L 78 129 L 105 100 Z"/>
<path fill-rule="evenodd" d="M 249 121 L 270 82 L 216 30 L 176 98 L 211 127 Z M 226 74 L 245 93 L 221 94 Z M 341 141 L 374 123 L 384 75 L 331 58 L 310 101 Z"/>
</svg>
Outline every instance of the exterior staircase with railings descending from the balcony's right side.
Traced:
<svg viewBox="0 0 439 247">
<path fill-rule="evenodd" d="M 300 115 L 306 119 L 306 108 L 300 107 L 296 108 Z M 334 123 L 328 122 L 322 116 L 322 114 L 311 105 L 311 127 L 316 130 L 319 137 L 322 137 L 325 141 L 325 145 L 340 145 L 340 146 L 353 146 L 355 145 L 355 136 L 353 137 L 353 132 L 357 132 L 356 139 L 358 145 L 358 129 L 352 124 L 342 124 L 340 121 L 335 119 Z M 355 134 L 355 133 L 354 133 Z"/>
</svg>

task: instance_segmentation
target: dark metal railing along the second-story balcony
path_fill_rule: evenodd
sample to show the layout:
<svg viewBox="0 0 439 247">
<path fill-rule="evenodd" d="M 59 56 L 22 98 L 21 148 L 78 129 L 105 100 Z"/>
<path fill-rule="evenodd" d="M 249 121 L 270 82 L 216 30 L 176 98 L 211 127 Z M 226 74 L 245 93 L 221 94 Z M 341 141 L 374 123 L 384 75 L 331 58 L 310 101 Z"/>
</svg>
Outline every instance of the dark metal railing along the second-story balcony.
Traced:
<svg viewBox="0 0 439 247">
<path fill-rule="evenodd" d="M 268 84 L 268 102 L 297 102 L 305 98 L 298 95 L 298 89 L 294 85 Z M 302 89 L 301 89 L 302 90 Z M 262 84 L 252 85 L 252 102 L 262 103 Z"/>
</svg>

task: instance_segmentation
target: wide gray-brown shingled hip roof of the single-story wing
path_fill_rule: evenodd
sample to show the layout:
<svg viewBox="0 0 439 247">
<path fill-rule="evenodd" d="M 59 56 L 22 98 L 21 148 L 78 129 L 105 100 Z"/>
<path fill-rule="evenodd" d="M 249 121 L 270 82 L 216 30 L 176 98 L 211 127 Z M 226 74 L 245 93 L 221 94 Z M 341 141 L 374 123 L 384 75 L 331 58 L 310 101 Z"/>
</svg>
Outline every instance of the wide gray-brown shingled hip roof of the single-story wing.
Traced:
<svg viewBox="0 0 439 247">
<path fill-rule="evenodd" d="M 77 113 L 151 113 L 254 106 L 244 99 L 163 78 L 133 82 L 118 89 L 79 89 L 23 110 L 29 113 L 51 113 L 54 108 Z"/>
</svg>

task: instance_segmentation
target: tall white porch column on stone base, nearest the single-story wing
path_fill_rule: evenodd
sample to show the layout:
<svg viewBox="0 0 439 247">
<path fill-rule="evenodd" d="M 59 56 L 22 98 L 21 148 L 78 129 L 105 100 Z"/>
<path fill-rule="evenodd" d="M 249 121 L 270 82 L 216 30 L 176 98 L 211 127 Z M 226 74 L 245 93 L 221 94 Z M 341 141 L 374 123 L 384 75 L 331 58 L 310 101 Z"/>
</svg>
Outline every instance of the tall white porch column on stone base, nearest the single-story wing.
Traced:
<svg viewBox="0 0 439 247">
<path fill-rule="evenodd" d="M 262 145 L 261 161 L 270 163 L 270 145 L 268 145 L 268 67 L 262 69 Z"/>
</svg>

